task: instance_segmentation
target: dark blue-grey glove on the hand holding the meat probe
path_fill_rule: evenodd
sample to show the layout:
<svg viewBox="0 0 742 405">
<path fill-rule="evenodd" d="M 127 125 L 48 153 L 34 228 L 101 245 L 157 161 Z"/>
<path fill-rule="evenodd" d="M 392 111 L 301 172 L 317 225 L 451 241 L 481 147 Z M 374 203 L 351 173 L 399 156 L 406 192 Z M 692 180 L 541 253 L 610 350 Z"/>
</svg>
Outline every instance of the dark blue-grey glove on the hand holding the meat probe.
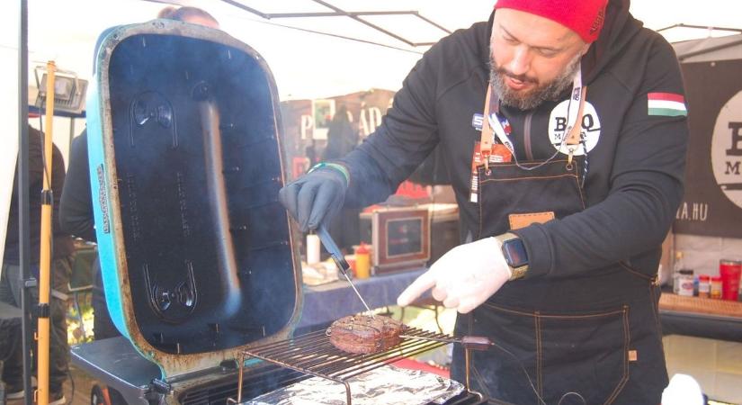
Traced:
<svg viewBox="0 0 742 405">
<path fill-rule="evenodd" d="M 348 181 L 335 167 L 324 166 L 309 171 L 278 192 L 278 200 L 307 232 L 317 229 L 343 208 Z"/>
</svg>

